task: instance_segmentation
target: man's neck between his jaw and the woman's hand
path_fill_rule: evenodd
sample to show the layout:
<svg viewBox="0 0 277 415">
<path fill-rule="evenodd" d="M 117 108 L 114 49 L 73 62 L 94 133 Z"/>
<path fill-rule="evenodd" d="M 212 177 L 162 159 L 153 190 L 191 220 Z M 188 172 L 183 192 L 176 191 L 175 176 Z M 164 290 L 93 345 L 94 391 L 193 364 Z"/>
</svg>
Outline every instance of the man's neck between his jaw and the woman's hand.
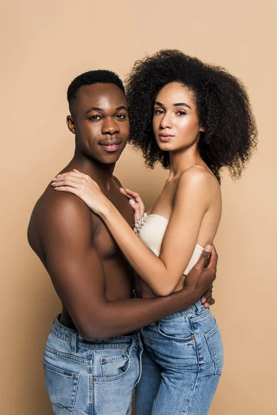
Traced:
<svg viewBox="0 0 277 415">
<path fill-rule="evenodd" d="M 99 163 L 96 160 L 87 158 L 84 156 L 79 156 L 76 152 L 73 159 L 66 166 L 66 171 L 71 171 L 72 169 L 77 169 L 79 172 L 87 174 L 93 178 L 96 183 L 100 186 L 100 189 L 103 192 L 109 192 L 111 187 L 111 178 L 114 172 L 114 167 L 116 163 L 105 165 Z"/>
</svg>

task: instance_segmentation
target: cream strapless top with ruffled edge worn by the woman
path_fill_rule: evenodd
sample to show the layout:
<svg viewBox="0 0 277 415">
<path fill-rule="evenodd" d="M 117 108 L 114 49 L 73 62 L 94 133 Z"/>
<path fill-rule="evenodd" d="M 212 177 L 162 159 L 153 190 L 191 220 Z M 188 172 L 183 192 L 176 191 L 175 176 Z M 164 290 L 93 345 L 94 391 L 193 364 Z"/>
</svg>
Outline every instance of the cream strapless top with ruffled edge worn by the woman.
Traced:
<svg viewBox="0 0 277 415">
<path fill-rule="evenodd" d="M 143 214 L 141 219 L 136 222 L 134 225 L 134 232 L 139 236 L 141 241 L 148 246 L 150 250 L 159 257 L 161 251 L 161 243 L 163 241 L 163 236 L 166 232 L 166 228 L 168 227 L 168 219 L 160 214 Z M 202 246 L 198 243 L 195 246 L 195 250 L 193 251 L 193 255 L 190 258 L 188 266 L 186 270 L 184 270 L 184 275 L 188 275 L 191 268 L 195 266 L 197 263 L 202 250 Z"/>
</svg>

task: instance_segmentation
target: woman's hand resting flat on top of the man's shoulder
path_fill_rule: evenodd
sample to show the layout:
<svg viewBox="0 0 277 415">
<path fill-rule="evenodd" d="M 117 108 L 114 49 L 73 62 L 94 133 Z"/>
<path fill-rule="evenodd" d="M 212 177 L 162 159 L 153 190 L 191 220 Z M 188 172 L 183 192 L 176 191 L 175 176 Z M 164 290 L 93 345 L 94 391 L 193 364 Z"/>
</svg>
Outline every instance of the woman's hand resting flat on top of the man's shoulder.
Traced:
<svg viewBox="0 0 277 415">
<path fill-rule="evenodd" d="M 96 181 L 75 169 L 73 172 L 58 174 L 51 185 L 57 192 L 69 192 L 80 197 L 93 212 L 99 215 L 105 212 L 110 203 Z"/>
</svg>

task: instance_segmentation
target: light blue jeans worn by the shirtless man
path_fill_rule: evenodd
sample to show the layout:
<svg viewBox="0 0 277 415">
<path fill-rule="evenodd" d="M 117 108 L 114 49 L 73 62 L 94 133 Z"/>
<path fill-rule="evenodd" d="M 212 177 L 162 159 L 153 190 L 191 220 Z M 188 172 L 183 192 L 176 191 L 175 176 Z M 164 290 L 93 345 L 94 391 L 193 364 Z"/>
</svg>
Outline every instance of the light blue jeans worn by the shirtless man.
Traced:
<svg viewBox="0 0 277 415">
<path fill-rule="evenodd" d="M 87 341 L 62 326 L 58 317 L 43 360 L 54 414 L 131 414 L 132 394 L 141 376 L 139 333 Z"/>
</svg>

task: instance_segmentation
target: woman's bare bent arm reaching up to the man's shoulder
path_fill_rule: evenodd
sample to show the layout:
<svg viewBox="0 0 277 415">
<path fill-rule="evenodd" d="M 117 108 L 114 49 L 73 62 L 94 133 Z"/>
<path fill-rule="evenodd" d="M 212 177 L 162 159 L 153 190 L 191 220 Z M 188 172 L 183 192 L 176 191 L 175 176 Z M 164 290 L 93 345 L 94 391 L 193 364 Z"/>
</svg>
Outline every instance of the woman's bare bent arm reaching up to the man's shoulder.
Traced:
<svg viewBox="0 0 277 415">
<path fill-rule="evenodd" d="M 63 181 L 57 179 L 58 190 L 77 194 L 100 215 L 129 264 L 155 295 L 172 293 L 193 255 L 203 216 L 213 197 L 210 192 L 213 176 L 202 169 L 189 169 L 181 174 L 159 257 L 145 246 L 97 183 L 88 177 L 82 186 L 71 183 L 68 177 Z M 76 186 L 79 186 L 77 191 Z"/>
</svg>

